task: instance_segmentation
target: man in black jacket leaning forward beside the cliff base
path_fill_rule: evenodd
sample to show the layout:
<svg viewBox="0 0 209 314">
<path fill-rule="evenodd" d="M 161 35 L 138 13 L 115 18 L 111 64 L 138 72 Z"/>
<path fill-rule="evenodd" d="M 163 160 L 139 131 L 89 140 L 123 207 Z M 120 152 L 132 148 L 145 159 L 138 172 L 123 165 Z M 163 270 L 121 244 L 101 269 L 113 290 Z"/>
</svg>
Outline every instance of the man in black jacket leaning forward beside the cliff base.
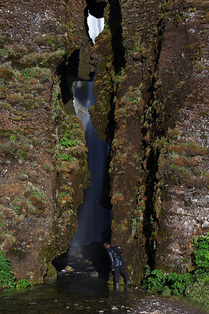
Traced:
<svg viewBox="0 0 209 314">
<path fill-rule="evenodd" d="M 128 274 L 125 271 L 125 262 L 122 259 L 120 253 L 122 249 L 118 246 L 110 246 L 108 242 L 104 243 L 104 248 L 107 250 L 107 254 L 111 263 L 112 271 L 114 272 L 114 285 L 115 287 L 119 287 L 119 272 L 125 278 L 125 286 L 130 286 L 131 282 L 128 277 Z"/>
</svg>

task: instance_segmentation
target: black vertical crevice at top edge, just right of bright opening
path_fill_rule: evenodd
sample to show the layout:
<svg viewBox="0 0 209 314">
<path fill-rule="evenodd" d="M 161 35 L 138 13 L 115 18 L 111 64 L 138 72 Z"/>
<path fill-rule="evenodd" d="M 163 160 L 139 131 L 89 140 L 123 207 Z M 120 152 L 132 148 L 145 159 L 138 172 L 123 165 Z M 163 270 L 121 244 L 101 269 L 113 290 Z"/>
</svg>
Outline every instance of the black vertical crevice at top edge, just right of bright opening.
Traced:
<svg viewBox="0 0 209 314">
<path fill-rule="evenodd" d="M 115 74 L 118 74 L 121 68 L 124 68 L 125 50 L 122 45 L 122 16 L 119 0 L 109 0 L 109 20 L 108 25 L 111 31 L 111 45 L 113 51 L 113 66 Z"/>
</svg>

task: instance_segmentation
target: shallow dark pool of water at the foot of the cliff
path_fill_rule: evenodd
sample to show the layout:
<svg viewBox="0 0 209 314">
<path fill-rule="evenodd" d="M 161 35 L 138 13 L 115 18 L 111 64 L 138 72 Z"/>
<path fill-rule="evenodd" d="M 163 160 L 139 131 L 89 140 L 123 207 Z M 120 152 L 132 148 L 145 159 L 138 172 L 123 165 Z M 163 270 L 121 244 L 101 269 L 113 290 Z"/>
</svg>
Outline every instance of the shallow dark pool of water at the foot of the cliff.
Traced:
<svg viewBox="0 0 209 314">
<path fill-rule="evenodd" d="M 116 290 L 99 277 L 89 277 L 88 272 L 63 273 L 58 274 L 56 281 L 47 281 L 44 285 L 3 291 L 0 313 L 112 313 L 113 307 L 127 313 L 143 295 L 124 286 Z"/>
</svg>

